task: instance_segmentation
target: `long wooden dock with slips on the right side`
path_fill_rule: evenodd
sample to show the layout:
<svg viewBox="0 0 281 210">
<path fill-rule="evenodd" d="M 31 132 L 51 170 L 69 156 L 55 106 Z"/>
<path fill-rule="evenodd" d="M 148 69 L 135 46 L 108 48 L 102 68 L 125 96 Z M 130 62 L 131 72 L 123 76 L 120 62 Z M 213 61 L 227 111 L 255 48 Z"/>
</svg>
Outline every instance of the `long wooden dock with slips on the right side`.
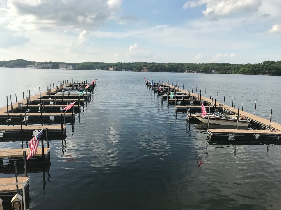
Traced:
<svg viewBox="0 0 281 210">
<path fill-rule="evenodd" d="M 146 85 L 148 87 L 152 87 L 150 83 L 146 83 Z M 159 83 L 156 83 L 155 85 L 153 85 L 153 90 L 157 90 L 157 87 L 159 86 Z M 192 100 L 196 99 L 197 101 L 203 101 L 204 104 L 206 104 L 206 110 L 207 112 L 209 112 L 209 109 L 211 112 L 214 111 L 214 109 L 218 109 L 221 112 L 224 112 L 226 114 L 233 114 L 233 115 L 237 115 L 238 114 L 238 109 L 234 108 L 234 107 L 230 107 L 228 105 L 225 105 L 221 102 L 218 102 L 214 99 L 211 98 L 207 98 L 205 96 L 202 96 L 202 94 L 198 94 L 198 93 L 192 93 L 190 90 L 184 90 L 183 88 L 178 88 L 175 87 L 173 85 L 170 84 L 164 84 L 163 82 L 161 83 L 161 87 L 163 87 L 166 91 L 167 87 L 168 89 L 170 88 L 170 90 L 172 90 L 171 92 L 173 92 L 174 94 L 174 99 L 172 99 L 172 103 L 175 105 L 175 110 L 176 111 L 185 111 L 188 109 L 189 113 L 188 113 L 188 119 L 191 120 L 193 119 L 193 115 L 191 114 L 191 111 L 196 111 L 198 109 L 198 112 L 201 112 L 201 106 L 198 105 L 188 105 L 188 106 L 184 106 L 184 105 L 178 105 L 176 100 L 180 99 L 182 101 L 184 96 L 189 96 L 192 98 Z M 161 90 L 157 91 L 158 94 L 161 93 Z M 196 91 L 195 91 L 196 92 Z M 163 91 L 164 93 L 164 91 Z M 168 97 L 170 97 L 170 93 L 165 94 L 161 94 L 163 99 L 167 99 Z M 170 100 L 170 99 L 169 99 Z M 189 99 L 191 100 L 191 99 Z M 178 100 L 179 101 L 179 100 Z M 170 103 L 170 102 L 168 102 Z M 194 101 L 193 101 L 194 103 Z M 209 108 L 209 107 L 210 108 Z M 190 108 L 191 107 L 191 108 Z M 254 114 L 250 114 L 248 112 L 245 111 L 241 111 L 239 110 L 239 116 L 243 116 L 246 117 L 250 123 L 254 126 L 259 126 L 260 128 L 262 128 L 262 130 L 239 130 L 239 129 L 208 129 L 208 135 L 211 138 L 229 138 L 229 136 L 235 136 L 236 138 L 281 138 L 281 125 L 275 122 L 271 122 L 271 127 L 270 127 L 270 120 L 264 119 L 262 117 L 256 116 Z M 269 127 L 270 127 L 270 131 L 269 131 Z"/>
</svg>

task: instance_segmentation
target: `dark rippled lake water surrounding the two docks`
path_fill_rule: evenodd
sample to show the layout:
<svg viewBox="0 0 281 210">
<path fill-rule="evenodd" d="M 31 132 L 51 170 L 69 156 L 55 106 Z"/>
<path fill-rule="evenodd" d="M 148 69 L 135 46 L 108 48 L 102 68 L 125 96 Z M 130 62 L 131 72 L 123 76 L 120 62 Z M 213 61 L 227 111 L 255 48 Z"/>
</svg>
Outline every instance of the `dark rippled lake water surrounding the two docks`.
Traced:
<svg viewBox="0 0 281 210">
<path fill-rule="evenodd" d="M 92 81 L 65 141 L 52 140 L 51 166 L 29 173 L 29 209 L 280 209 L 279 142 L 210 142 L 206 129 L 145 86 L 172 81 L 281 123 L 281 77 L 1 68 L 6 96 L 31 95 L 64 79 Z M 46 86 L 45 86 L 46 89 Z M 10 97 L 10 96 L 9 96 Z M 24 147 L 26 142 L 24 142 Z M 21 148 L 21 141 L 0 148 Z M 200 166 L 200 167 L 198 167 Z M 13 177 L 14 174 L 0 174 Z M 24 176 L 24 174 L 20 174 Z"/>
</svg>

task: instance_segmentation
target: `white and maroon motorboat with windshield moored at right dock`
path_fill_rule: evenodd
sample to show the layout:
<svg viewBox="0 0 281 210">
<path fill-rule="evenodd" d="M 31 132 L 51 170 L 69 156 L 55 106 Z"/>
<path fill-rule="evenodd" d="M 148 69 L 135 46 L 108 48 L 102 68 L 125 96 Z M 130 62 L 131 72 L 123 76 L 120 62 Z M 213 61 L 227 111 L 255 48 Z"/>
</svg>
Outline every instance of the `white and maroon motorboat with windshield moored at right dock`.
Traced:
<svg viewBox="0 0 281 210">
<path fill-rule="evenodd" d="M 200 120 L 203 123 L 208 123 L 209 116 L 209 124 L 215 125 L 227 125 L 227 126 L 236 126 L 237 125 L 237 115 L 228 115 L 223 114 L 221 112 L 213 112 L 211 114 L 206 114 L 202 117 L 201 113 L 193 114 L 195 118 Z M 239 116 L 238 119 L 238 127 L 248 127 L 250 121 L 243 116 Z"/>
</svg>

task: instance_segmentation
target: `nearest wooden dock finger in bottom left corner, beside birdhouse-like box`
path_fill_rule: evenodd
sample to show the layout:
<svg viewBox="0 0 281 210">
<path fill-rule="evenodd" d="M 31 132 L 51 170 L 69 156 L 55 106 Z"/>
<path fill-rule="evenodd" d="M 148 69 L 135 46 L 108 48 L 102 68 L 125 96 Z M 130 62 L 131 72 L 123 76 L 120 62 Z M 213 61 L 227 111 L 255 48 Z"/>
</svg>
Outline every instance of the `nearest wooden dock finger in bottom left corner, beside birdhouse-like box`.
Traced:
<svg viewBox="0 0 281 210">
<path fill-rule="evenodd" d="M 25 190 L 29 189 L 29 180 L 30 180 L 29 177 L 18 177 L 17 178 L 18 182 L 24 182 Z M 13 184 L 13 183 L 17 183 L 15 177 L 0 178 L 0 185 Z M 22 184 L 19 184 L 18 187 L 19 187 L 19 194 L 22 195 L 22 191 L 23 191 Z M 1 198 L 12 197 L 16 193 L 17 193 L 17 185 L 0 186 L 0 197 Z"/>
</svg>

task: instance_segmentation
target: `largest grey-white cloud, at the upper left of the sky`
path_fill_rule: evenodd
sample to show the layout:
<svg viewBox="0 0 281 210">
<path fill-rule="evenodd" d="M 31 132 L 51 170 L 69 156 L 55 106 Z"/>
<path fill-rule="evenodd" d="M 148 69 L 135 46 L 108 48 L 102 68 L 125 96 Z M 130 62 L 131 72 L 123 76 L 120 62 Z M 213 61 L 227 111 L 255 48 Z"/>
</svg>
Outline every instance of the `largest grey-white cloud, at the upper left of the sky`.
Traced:
<svg viewBox="0 0 281 210">
<path fill-rule="evenodd" d="M 122 12 L 122 0 L 8 0 L 0 18 L 10 18 L 12 30 L 95 29 Z"/>
</svg>

